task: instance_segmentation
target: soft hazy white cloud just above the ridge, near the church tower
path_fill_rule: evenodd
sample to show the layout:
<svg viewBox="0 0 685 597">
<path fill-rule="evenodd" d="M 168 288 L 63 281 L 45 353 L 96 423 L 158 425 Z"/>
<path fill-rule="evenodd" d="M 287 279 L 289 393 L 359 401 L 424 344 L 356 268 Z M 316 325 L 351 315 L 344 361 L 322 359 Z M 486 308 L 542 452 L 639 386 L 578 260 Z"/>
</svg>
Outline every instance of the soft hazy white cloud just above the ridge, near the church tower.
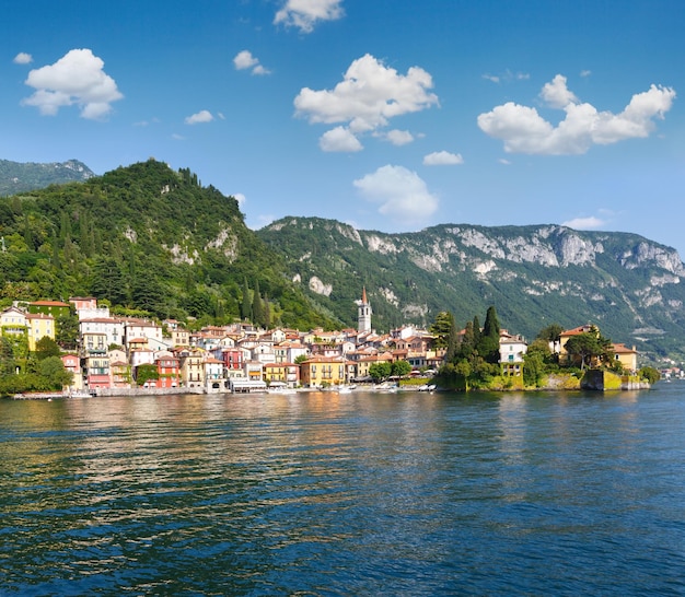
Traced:
<svg viewBox="0 0 685 597">
<path fill-rule="evenodd" d="M 426 183 L 403 166 L 382 166 L 353 185 L 365 199 L 380 203 L 379 213 L 405 226 L 416 229 L 438 209 L 438 198 Z"/>
</svg>

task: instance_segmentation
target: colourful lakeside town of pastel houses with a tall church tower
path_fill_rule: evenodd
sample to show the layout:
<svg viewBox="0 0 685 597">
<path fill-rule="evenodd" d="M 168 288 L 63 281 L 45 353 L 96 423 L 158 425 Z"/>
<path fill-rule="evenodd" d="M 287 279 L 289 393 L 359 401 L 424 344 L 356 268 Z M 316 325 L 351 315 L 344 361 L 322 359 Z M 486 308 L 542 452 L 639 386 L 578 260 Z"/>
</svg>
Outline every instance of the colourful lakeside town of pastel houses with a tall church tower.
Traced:
<svg viewBox="0 0 685 597">
<path fill-rule="evenodd" d="M 44 365 L 50 356 L 59 359 L 62 371 L 53 373 L 50 387 L 36 387 L 34 382 L 33 385 L 19 384 L 12 388 L 14 391 L 5 387 L 2 393 L 18 398 L 54 398 L 158 393 L 350 391 L 355 386 L 376 391 L 433 391 L 438 388 L 632 389 L 650 385 L 649 379 L 638 375 L 635 347 L 612 343 L 614 362 L 611 364 L 618 375 L 609 371 L 602 371 L 601 375 L 597 372 L 592 375 L 557 373 L 541 377 L 532 388 L 524 383 L 523 375 L 527 342 L 497 324 L 496 353 L 491 360 L 495 364 L 490 365 L 490 371 L 496 367 L 497 375 L 491 376 L 486 386 L 464 384 L 462 387 L 451 383 L 450 373 L 456 378 L 458 375 L 454 372 L 460 374 L 462 370 L 458 364 L 450 365 L 454 350 L 449 339 L 440 338 L 439 326 L 431 330 L 403 326 L 388 333 L 376 333 L 365 289 L 357 304 L 357 328 L 302 332 L 282 328 L 264 330 L 245 323 L 189 331 L 173 319 L 154 321 L 114 316 L 108 306 L 98 304 L 94 297 L 72 297 L 69 303 L 16 302 L 0 313 L 3 352 L 13 349 L 15 352 L 23 350 L 26 356 L 40 355 L 43 360 L 38 364 L 43 368 L 47 368 Z M 77 341 L 74 350 L 65 351 L 55 339 L 59 323 L 70 315 L 74 317 Z M 471 323 L 456 337 L 462 344 L 469 326 Z M 479 327 L 477 323 L 475 326 Z M 473 326 L 471 329 L 473 331 Z M 571 339 L 592 333 L 599 337 L 599 330 L 591 325 L 560 330 L 549 342 L 548 350 L 556 352 L 558 359 L 568 360 L 570 353 L 565 349 L 567 344 L 571 347 Z M 583 364 L 584 359 L 583 355 Z M 37 367 L 35 362 L 30 365 L 30 358 L 23 362 L 26 368 Z M 14 359 L 13 363 L 21 363 L 21 360 Z M 448 375 L 441 375 L 445 370 Z M 20 366 L 10 375 L 7 367 L 2 373 L 5 381 L 11 376 L 18 382 L 36 379 L 27 372 L 22 375 Z M 61 384 L 58 373 L 62 375 Z M 461 375 L 467 379 L 467 373 Z"/>
</svg>

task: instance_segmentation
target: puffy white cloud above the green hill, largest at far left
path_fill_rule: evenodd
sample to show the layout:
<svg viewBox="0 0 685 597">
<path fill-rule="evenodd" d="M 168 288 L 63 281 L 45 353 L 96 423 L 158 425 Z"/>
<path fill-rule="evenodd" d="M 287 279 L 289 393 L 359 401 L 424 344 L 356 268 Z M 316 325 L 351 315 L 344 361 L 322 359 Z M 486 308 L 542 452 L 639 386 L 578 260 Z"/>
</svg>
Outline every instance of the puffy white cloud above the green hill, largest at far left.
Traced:
<svg viewBox="0 0 685 597">
<path fill-rule="evenodd" d="M 104 65 L 90 49 L 72 49 L 54 65 L 28 72 L 25 83 L 36 91 L 22 105 L 54 116 L 60 107 L 76 104 L 82 118 L 104 118 L 112 112 L 112 102 L 124 97 Z"/>
</svg>

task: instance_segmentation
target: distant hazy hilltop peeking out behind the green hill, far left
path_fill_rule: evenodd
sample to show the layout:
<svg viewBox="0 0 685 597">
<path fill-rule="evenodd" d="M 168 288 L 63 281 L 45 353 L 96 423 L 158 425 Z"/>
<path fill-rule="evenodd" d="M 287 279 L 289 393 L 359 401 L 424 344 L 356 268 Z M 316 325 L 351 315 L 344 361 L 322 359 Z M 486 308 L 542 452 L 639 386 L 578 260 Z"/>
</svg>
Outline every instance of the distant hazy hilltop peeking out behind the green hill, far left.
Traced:
<svg viewBox="0 0 685 597">
<path fill-rule="evenodd" d="M 0 160 L 0 196 L 15 195 L 74 180 L 88 180 L 93 171 L 78 160 L 46 164 Z"/>
</svg>

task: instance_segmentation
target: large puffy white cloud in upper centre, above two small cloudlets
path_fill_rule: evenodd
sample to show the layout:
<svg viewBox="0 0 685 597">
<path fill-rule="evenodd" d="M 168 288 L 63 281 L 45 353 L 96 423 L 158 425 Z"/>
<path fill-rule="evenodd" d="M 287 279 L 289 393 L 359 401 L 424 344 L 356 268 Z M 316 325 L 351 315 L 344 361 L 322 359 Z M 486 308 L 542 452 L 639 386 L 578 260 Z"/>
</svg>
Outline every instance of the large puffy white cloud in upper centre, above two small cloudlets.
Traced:
<svg viewBox="0 0 685 597">
<path fill-rule="evenodd" d="M 394 116 L 438 104 L 438 96 L 428 92 L 432 86 L 423 69 L 411 67 L 403 75 L 367 54 L 350 65 L 335 89 L 300 90 L 295 114 L 312 124 L 347 122 L 352 133 L 373 131 Z"/>
</svg>

